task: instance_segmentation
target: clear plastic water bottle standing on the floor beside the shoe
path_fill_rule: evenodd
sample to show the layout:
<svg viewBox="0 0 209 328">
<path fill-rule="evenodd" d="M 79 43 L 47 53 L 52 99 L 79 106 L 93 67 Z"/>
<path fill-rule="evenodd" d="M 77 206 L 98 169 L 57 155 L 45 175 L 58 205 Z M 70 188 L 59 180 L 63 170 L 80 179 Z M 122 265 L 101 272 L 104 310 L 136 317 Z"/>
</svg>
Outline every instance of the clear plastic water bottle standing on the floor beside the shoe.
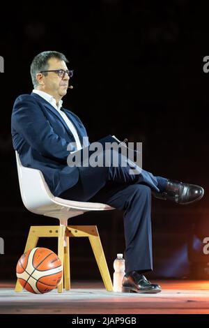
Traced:
<svg viewBox="0 0 209 328">
<path fill-rule="evenodd" d="M 125 274 L 125 260 L 123 254 L 117 254 L 114 260 L 114 292 L 122 292 L 122 281 Z"/>
</svg>

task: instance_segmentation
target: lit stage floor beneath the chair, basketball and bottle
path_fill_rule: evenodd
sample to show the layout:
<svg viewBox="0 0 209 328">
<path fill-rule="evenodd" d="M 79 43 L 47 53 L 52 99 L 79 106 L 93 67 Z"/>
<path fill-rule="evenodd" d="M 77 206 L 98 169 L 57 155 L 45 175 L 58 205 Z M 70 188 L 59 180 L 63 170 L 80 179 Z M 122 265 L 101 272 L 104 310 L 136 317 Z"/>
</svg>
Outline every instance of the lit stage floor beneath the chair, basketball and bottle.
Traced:
<svg viewBox="0 0 209 328">
<path fill-rule="evenodd" d="M 154 282 L 154 281 L 153 281 Z M 136 314 L 209 313 L 209 281 L 155 281 L 156 295 L 106 292 L 102 283 L 72 283 L 72 290 L 45 295 L 14 292 L 14 283 L 0 283 L 0 313 Z"/>
</svg>

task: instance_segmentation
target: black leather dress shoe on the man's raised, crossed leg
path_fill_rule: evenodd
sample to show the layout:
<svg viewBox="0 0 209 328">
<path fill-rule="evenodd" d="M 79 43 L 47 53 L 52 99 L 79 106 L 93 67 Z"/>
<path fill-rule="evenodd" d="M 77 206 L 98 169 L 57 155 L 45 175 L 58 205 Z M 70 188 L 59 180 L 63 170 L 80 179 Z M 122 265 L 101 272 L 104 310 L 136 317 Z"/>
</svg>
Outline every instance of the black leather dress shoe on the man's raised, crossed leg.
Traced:
<svg viewBox="0 0 209 328">
<path fill-rule="evenodd" d="M 153 193 L 156 198 L 161 200 L 172 200 L 178 204 L 190 204 L 201 200 L 204 189 L 195 184 L 183 184 L 183 182 L 168 180 L 167 186 L 162 193 Z"/>
</svg>

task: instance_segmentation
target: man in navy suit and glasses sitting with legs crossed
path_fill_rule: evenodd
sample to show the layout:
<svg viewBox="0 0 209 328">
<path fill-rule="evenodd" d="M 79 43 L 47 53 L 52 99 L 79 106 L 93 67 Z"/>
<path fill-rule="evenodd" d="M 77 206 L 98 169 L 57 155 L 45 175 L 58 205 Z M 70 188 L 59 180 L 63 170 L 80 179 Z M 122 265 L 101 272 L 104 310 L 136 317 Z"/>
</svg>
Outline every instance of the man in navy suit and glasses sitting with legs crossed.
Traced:
<svg viewBox="0 0 209 328">
<path fill-rule="evenodd" d="M 70 200 L 104 202 L 124 211 L 125 276 L 123 292 L 160 292 L 146 280 L 153 269 L 151 244 L 151 193 L 155 197 L 187 204 L 203 197 L 203 188 L 183 184 L 130 166 L 68 166 L 72 151 L 88 146 L 79 117 L 62 107 L 72 70 L 59 52 L 42 52 L 31 64 L 33 92 L 15 100 L 12 114 L 13 147 L 22 165 L 44 174 L 55 196 Z M 86 144 L 85 144 L 86 142 Z"/>
</svg>

